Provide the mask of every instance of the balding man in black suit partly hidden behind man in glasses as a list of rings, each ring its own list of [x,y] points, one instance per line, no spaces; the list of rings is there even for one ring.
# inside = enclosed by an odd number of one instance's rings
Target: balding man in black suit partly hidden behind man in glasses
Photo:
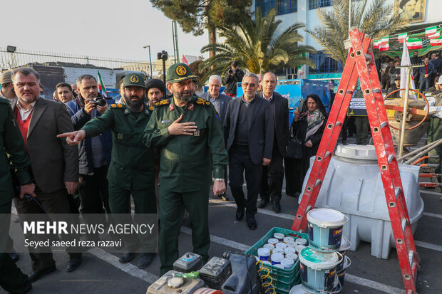
[[[261,203],[259,208],[264,208],[272,200],[273,211],[281,212],[282,181],[284,181],[284,166],[282,161],[289,144],[289,101],[274,92],[277,78],[274,73],[265,73],[262,78],[263,98],[272,105],[274,122],[272,162],[267,167],[262,167]]]

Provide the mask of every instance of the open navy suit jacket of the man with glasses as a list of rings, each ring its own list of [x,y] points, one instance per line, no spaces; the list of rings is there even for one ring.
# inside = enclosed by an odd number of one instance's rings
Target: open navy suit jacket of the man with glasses
[[[263,158],[272,159],[273,113],[269,101],[255,95],[253,115],[249,123],[249,151],[252,162],[261,164]],[[230,100],[224,121],[224,137],[227,152],[232,147],[237,130],[241,97]]]

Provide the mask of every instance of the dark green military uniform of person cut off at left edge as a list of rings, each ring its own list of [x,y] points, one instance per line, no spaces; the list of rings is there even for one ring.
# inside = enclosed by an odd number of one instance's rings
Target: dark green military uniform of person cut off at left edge
[[[9,154],[9,158],[6,156]],[[4,290],[20,293],[29,287],[28,276],[11,260],[6,252],[6,242],[11,221],[11,202],[14,197],[11,167],[16,171],[20,184],[31,184],[28,168],[31,165],[26,157],[23,137],[16,124],[9,101],[0,98],[0,285]]]

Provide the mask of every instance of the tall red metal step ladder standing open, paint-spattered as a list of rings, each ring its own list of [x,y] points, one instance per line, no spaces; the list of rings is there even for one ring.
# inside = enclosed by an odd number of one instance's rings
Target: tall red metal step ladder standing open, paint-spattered
[[[411,232],[404,189],[402,188],[398,162],[394,152],[393,140],[391,139],[384,98],[382,97],[381,85],[370,46],[371,39],[361,33],[359,29],[353,29],[350,31],[350,41],[349,57],[344,66],[341,82],[292,230],[305,231],[307,227],[307,212],[316,203],[319,189],[321,189],[321,184],[341,132],[342,122],[346,117],[351,96],[356,89],[359,78],[361,90],[364,93],[382,183],[384,184],[386,204],[389,209],[391,228],[394,233],[406,294],[416,294],[416,277],[419,268],[418,254]]]

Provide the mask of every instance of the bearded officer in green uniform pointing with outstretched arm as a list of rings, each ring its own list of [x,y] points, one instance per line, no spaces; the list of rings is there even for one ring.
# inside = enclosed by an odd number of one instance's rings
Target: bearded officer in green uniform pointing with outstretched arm
[[[125,75],[123,80],[125,103],[112,104],[101,115],[86,123],[81,130],[58,135],[66,137],[68,144],[78,144],[85,137],[94,137],[109,128],[112,130],[113,149],[108,170],[109,206],[112,214],[130,216],[130,195],[137,214],[156,214],[153,147],[143,144],[143,131],[148,125],[150,109],[145,104],[145,76],[139,73]],[[153,107],[151,107],[153,110]],[[141,217],[141,216],[138,216]],[[143,256],[139,268],[146,268],[155,256],[149,251],[153,241],[140,234]],[[156,240],[155,246],[156,246]],[[138,239],[125,240],[125,254],[121,263],[135,257]],[[156,248],[155,248],[156,249]]]

